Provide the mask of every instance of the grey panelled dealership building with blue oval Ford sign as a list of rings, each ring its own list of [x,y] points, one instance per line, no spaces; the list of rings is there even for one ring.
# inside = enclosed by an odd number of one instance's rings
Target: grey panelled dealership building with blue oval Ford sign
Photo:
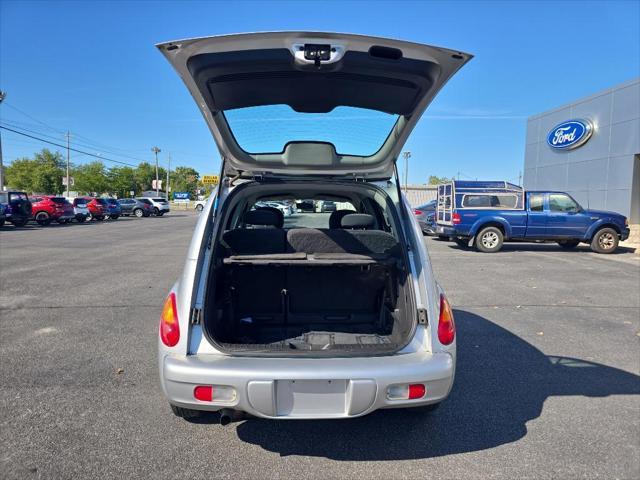
[[[640,78],[527,121],[524,187],[629,218],[640,241]]]

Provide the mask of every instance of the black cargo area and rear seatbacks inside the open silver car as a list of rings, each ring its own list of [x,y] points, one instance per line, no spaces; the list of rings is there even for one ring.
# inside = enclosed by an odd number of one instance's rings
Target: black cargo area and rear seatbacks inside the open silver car
[[[210,338],[238,352],[404,346],[415,315],[401,247],[372,218],[336,211],[333,228],[287,229],[268,208],[244,213],[223,233],[208,283]]]

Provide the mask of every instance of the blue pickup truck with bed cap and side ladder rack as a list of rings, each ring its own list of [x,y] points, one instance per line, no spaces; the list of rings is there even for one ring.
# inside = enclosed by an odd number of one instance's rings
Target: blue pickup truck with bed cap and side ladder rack
[[[612,253],[629,237],[624,215],[585,209],[564,192],[524,191],[508,182],[454,180],[438,185],[436,235],[481,252],[506,241],[557,242],[562,248],[588,243]]]

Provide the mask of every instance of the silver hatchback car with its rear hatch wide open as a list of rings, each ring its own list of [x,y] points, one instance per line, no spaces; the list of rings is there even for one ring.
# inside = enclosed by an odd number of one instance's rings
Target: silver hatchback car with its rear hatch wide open
[[[201,109],[222,176],[161,314],[173,412],[272,419],[433,410],[456,366],[451,307],[396,160],[471,56],[280,32],[158,45]],[[287,220],[264,202],[353,209]]]

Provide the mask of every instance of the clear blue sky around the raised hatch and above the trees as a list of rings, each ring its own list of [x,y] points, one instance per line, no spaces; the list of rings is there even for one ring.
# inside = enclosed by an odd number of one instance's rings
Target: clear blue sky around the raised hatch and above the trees
[[[215,173],[213,139],[154,44],[268,30],[387,36],[475,55],[409,140],[412,183],[457,172],[517,180],[528,116],[640,75],[639,1],[2,0],[0,121],[59,142],[70,130],[77,148],[124,162],[152,160],[158,145],[163,163],[170,152],[173,166]],[[6,131],[2,145],[5,162],[43,146]]]

